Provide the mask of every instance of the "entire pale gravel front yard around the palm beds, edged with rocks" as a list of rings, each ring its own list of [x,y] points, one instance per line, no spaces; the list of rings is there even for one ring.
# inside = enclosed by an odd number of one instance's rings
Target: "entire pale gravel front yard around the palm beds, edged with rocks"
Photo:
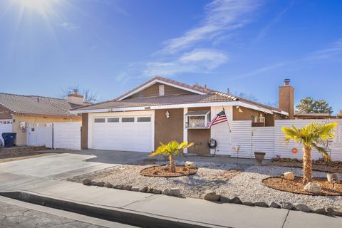
[[[279,176],[288,171],[294,172],[296,176],[301,176],[301,168],[218,165],[212,162],[197,162],[195,165],[198,167],[197,173],[183,177],[145,177],[140,175],[139,172],[151,165],[120,165],[87,175],[72,177],[68,180],[83,182],[85,179],[90,179],[95,182],[110,183],[110,186],[130,185],[130,188],[133,187],[133,189],[137,190],[141,187],[150,187],[157,190],[155,191],[157,193],[162,192],[164,189],[179,188],[182,196],[194,198],[203,198],[205,192],[212,190],[215,194],[222,196],[221,201],[244,202],[244,204],[254,203],[256,205],[260,204],[259,207],[279,204],[283,208],[291,208],[291,204],[299,204],[299,206],[304,204],[303,207],[307,205],[313,210],[322,207],[342,209],[341,196],[294,194],[271,189],[262,183],[262,180],[266,177]],[[326,173],[314,172],[314,177],[326,177]]]

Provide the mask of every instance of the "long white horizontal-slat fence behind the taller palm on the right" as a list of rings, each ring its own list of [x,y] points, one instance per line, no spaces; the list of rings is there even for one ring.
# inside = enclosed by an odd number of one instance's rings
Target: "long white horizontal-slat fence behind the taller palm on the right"
[[[233,157],[254,158],[254,152],[266,152],[266,158],[291,157],[301,159],[301,145],[299,143],[286,143],[282,127],[304,127],[313,122],[338,122],[336,137],[331,141],[329,151],[331,160],[342,160],[342,120],[276,120],[274,127],[251,127],[251,121],[233,121],[232,123],[232,147],[239,147],[239,152],[232,150]],[[294,154],[292,149],[298,152]],[[322,157],[316,150],[312,157],[317,160]]]

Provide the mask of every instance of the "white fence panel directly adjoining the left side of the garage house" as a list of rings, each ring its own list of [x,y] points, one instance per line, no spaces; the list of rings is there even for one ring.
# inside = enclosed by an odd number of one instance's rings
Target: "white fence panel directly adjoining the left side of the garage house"
[[[53,123],[53,148],[81,150],[81,122]]]

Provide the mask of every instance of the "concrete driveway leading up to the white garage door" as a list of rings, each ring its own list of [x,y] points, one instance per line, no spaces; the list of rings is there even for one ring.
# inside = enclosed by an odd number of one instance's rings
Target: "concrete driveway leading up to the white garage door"
[[[46,152],[57,152],[59,154],[3,162],[0,163],[0,172],[63,180],[115,165],[136,162],[148,157],[147,153],[142,152],[101,150],[51,150]]]

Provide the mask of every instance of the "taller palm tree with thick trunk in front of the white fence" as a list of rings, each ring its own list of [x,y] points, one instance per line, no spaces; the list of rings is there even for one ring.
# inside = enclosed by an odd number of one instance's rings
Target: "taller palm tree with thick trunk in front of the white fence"
[[[322,141],[331,140],[336,131],[333,129],[338,123],[310,123],[304,128],[281,128],[283,131],[286,142],[294,140],[303,145],[303,184],[306,185],[312,180],[311,170],[311,151],[316,148],[320,152],[324,160],[329,161],[330,156],[325,148],[321,147]]]

